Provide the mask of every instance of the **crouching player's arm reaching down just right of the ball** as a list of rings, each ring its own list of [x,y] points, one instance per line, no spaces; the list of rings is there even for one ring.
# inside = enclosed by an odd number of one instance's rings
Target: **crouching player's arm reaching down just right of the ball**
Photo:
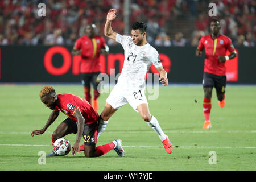
[[[84,131],[84,122],[85,122],[85,119],[82,116],[80,109],[77,109],[75,111],[74,117],[77,119],[77,135],[76,135],[76,142],[72,147],[72,155],[75,155],[76,152],[79,152],[80,140],[82,138],[82,132]]]

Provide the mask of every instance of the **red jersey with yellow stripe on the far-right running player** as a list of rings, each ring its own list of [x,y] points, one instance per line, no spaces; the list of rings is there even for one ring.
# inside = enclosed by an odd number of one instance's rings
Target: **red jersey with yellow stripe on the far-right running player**
[[[225,62],[220,62],[218,56],[226,56],[227,50],[230,53],[235,51],[230,38],[220,34],[216,39],[213,39],[209,34],[200,39],[197,49],[200,51],[205,49],[204,72],[220,76],[226,75]]]

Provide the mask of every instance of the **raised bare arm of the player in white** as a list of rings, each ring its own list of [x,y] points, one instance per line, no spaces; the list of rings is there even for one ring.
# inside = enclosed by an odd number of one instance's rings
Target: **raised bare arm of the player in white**
[[[114,32],[111,27],[111,22],[117,17],[115,13],[117,13],[116,9],[109,10],[106,17],[105,27],[104,27],[104,35],[113,40],[115,40],[115,37],[117,36],[117,33]]]

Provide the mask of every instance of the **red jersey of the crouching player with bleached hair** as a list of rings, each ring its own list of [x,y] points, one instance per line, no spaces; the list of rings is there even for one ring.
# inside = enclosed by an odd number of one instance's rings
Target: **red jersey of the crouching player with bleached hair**
[[[73,121],[77,122],[77,119],[73,116],[75,111],[79,109],[82,116],[85,119],[86,124],[95,123],[98,121],[98,113],[92,106],[82,97],[75,96],[73,94],[58,94],[56,110],[60,110]]]

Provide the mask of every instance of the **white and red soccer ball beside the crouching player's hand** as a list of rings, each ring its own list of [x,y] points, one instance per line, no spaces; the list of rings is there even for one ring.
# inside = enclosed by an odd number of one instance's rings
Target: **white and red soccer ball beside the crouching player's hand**
[[[59,138],[53,143],[53,151],[57,155],[67,155],[71,150],[70,142],[65,138]]]

